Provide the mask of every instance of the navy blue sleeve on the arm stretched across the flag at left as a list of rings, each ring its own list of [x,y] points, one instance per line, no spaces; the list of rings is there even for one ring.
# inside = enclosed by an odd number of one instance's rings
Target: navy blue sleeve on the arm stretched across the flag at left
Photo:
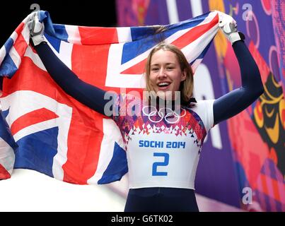
[[[82,81],[52,52],[52,49],[46,42],[35,46],[35,49],[47,72],[50,73],[50,76],[65,93],[96,112],[112,117],[112,103],[115,102],[115,93],[112,95],[107,93],[106,95],[105,90]],[[105,95],[107,100],[104,98]],[[104,111],[105,106],[110,106],[110,111],[106,112],[106,114]]]

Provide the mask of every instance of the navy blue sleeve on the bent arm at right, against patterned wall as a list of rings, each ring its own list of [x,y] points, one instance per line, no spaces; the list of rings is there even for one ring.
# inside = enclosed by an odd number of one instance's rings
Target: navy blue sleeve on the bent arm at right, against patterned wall
[[[264,92],[260,71],[248,47],[240,40],[233,43],[233,50],[240,66],[242,85],[214,101],[214,124],[242,112]]]

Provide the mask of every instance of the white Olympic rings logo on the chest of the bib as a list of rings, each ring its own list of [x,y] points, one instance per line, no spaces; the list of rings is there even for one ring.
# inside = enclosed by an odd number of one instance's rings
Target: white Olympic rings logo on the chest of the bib
[[[146,108],[149,107],[151,108],[150,112],[146,112]],[[169,124],[175,124],[180,120],[180,118],[185,117],[186,115],[185,109],[182,109],[182,115],[179,115],[177,112],[173,111],[169,107],[162,107],[161,109],[159,109],[159,111],[157,111],[156,107],[144,106],[142,112],[145,116],[149,117],[149,121],[154,123],[158,123],[165,119],[165,121],[167,121]],[[166,112],[166,114],[164,112]],[[158,121],[154,121],[153,119],[151,119],[151,117],[155,116],[156,114],[158,114],[158,116],[160,117]]]

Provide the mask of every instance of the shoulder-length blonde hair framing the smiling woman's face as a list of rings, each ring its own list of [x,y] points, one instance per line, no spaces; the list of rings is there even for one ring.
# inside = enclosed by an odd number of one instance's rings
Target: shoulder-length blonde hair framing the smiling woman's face
[[[146,78],[146,91],[151,92],[153,91],[153,87],[151,85],[151,81],[149,79],[150,73],[151,73],[151,58],[155,52],[158,52],[158,50],[163,49],[165,51],[173,52],[178,57],[178,62],[180,64],[181,71],[184,71],[186,74],[185,81],[182,81],[180,83],[180,98],[182,105],[187,105],[187,103],[190,101],[190,98],[192,97],[193,93],[193,87],[194,87],[194,80],[193,80],[193,71],[191,66],[189,65],[185,55],[182,53],[178,47],[176,47],[173,44],[165,44],[161,43],[158,44],[158,46],[151,49],[151,52],[149,54],[149,57],[146,60],[146,69],[145,69],[145,78]]]

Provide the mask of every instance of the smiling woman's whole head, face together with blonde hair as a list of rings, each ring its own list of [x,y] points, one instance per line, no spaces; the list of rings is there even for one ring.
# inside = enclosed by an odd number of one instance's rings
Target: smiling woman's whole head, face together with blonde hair
[[[146,91],[162,99],[175,100],[180,91],[182,105],[188,105],[193,91],[193,71],[182,51],[173,44],[158,44],[151,49],[144,73]]]

